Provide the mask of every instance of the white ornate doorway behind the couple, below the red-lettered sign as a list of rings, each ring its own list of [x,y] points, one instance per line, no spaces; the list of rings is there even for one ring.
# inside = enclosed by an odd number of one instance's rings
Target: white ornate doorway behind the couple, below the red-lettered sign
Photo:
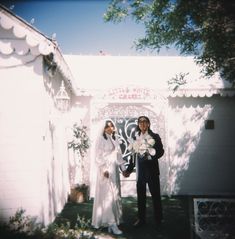
[[[166,106],[166,105],[165,105]],[[166,107],[159,106],[158,102],[97,102],[91,105],[91,133],[92,139],[95,141],[97,137],[98,125],[106,119],[111,119],[117,130],[118,139],[120,141],[123,158],[127,164],[130,159],[130,152],[127,150],[129,145],[128,138],[132,136],[137,125],[137,118],[140,115],[146,115],[151,122],[151,129],[160,135],[165,154],[159,159],[160,167],[160,180],[162,194],[168,194],[168,159],[167,159],[167,134],[166,134]],[[91,147],[91,165],[90,165],[90,181],[91,181],[91,197],[94,195],[95,185],[95,164],[94,164],[95,152]],[[122,196],[135,196],[136,195],[136,177],[135,173],[132,173],[129,178],[124,178],[121,175]]]

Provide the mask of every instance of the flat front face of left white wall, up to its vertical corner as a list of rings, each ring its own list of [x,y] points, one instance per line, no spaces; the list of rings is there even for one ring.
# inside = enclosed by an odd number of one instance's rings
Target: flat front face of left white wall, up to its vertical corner
[[[37,73],[35,73],[37,72]],[[1,70],[1,216],[17,208],[38,215],[43,158],[42,59]]]

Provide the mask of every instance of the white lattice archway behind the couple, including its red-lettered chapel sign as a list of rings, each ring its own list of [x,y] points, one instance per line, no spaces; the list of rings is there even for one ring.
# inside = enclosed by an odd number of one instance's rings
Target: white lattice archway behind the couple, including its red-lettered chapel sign
[[[128,138],[136,127],[137,118],[146,115],[150,118],[151,129],[161,136],[165,154],[159,160],[161,172],[161,188],[163,194],[168,194],[168,157],[167,157],[167,107],[168,100],[160,91],[136,86],[125,86],[107,91],[91,100],[91,138],[95,141],[97,126],[105,119],[112,119],[117,128],[118,137],[124,159],[128,162]],[[94,182],[94,148],[91,148],[91,182]],[[131,178],[122,178],[122,195],[135,195],[135,174]],[[91,183],[94,185],[94,183]],[[91,196],[93,188],[91,187]]]

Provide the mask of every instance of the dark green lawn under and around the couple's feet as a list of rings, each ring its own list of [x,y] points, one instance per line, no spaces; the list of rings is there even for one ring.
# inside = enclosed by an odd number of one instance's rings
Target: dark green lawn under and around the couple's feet
[[[128,238],[128,239],[189,239],[190,220],[188,212],[188,201],[185,198],[162,197],[164,223],[156,228],[154,224],[152,201],[147,199],[147,217],[146,225],[141,228],[134,228],[133,222],[137,216],[137,201],[135,197],[123,198],[123,219],[120,225],[123,231],[121,236],[113,236],[107,232],[107,228],[98,230],[95,233],[96,238]],[[69,221],[73,227],[79,215],[85,219],[91,219],[93,200],[85,203],[68,202],[63,211],[56,218],[56,222]]]

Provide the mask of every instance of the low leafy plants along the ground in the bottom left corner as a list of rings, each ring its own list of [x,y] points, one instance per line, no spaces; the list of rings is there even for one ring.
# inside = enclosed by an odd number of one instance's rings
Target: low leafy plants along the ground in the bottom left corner
[[[94,231],[91,227],[91,220],[85,217],[77,216],[77,223],[74,228],[70,222],[51,223],[47,227],[42,224],[35,223],[35,218],[26,216],[25,210],[19,209],[13,217],[10,217],[9,222],[0,227],[2,239],[92,239]]]

